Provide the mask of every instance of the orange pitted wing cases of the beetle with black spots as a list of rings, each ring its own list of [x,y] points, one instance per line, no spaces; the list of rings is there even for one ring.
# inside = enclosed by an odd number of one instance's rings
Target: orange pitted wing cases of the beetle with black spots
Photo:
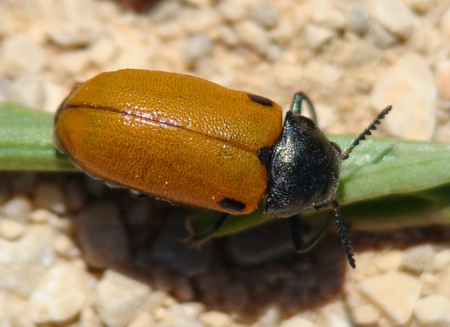
[[[104,72],[55,118],[55,144],[90,175],[172,202],[254,210],[267,186],[258,150],[282,128],[273,101],[162,71]]]

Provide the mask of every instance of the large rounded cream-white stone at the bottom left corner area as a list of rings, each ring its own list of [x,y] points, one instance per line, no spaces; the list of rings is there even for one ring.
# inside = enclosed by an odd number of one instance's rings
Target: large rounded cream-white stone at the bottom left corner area
[[[33,321],[57,323],[75,317],[87,300],[89,279],[74,263],[62,262],[49,269],[30,296]]]

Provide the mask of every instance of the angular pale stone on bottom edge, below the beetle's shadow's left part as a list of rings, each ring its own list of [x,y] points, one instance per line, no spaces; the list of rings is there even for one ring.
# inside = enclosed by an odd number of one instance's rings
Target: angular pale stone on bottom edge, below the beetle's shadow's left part
[[[142,308],[151,288],[112,270],[97,285],[95,308],[108,327],[122,327]]]

